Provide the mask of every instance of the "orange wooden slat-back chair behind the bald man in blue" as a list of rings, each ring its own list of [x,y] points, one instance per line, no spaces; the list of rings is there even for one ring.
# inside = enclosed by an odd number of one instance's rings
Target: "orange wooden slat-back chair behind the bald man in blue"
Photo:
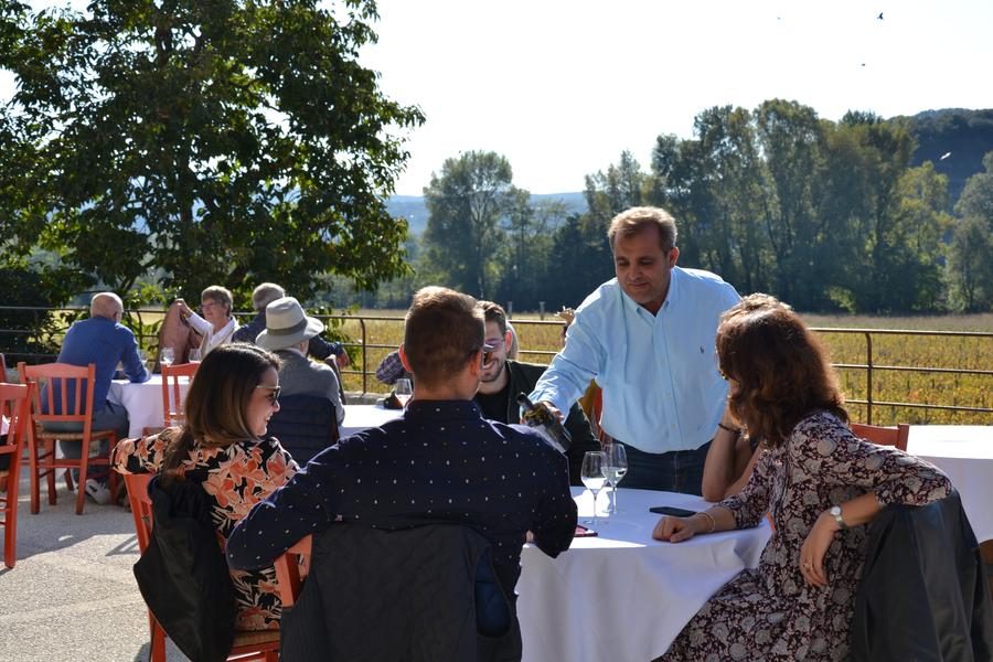
[[[117,474],[110,471],[110,453],[117,446],[117,433],[113,429],[95,430],[90,414],[93,413],[93,388],[96,367],[70,365],[68,363],[46,363],[43,365],[18,364],[21,383],[28,385],[31,401],[31,423],[28,426],[28,461],[31,467],[31,513],[38,514],[40,509],[39,483],[42,477],[47,478],[49,503],[55,505],[55,470],[68,469],[65,472],[65,484],[73,490],[72,469],[79,470],[79,484],[76,485],[76,514],[83,514],[86,503],[86,476],[90,466],[107,467],[110,479],[110,492],[117,493]],[[85,395],[84,395],[85,392]],[[42,403],[47,403],[45,407]],[[74,414],[66,414],[66,412]],[[54,414],[52,412],[58,412]],[[46,430],[46,423],[75,423],[82,426],[78,433],[55,433]],[[94,442],[107,439],[107,453],[89,457]],[[79,458],[56,458],[56,441],[78,441]]]

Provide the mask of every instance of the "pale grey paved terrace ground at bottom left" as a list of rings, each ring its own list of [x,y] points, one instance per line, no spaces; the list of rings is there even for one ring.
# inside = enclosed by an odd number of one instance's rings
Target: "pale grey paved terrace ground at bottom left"
[[[60,480],[58,504],[43,496],[32,515],[26,470],[20,485],[18,564],[0,565],[0,660],[148,660],[131,513],[88,501],[76,515],[75,494]],[[171,647],[168,656],[185,660]]]

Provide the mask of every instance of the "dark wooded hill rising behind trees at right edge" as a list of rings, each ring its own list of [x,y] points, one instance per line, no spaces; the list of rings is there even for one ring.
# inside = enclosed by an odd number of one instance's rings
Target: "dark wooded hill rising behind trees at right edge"
[[[918,142],[911,166],[931,161],[947,174],[949,205],[954,206],[965,180],[983,171],[983,154],[993,151],[993,109],[925,110],[909,119]]]

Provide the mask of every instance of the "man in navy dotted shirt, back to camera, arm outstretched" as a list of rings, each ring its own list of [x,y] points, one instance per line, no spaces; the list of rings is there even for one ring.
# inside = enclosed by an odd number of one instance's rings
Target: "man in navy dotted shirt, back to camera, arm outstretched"
[[[566,458],[524,426],[482,418],[483,313],[440,287],[414,295],[399,355],[414,373],[404,416],[342,439],[257,504],[227,541],[228,564],[269,565],[341,517],[396,530],[433,523],[473,528],[492,545],[514,602],[526,532],[545,554],[568,548],[576,526]]]

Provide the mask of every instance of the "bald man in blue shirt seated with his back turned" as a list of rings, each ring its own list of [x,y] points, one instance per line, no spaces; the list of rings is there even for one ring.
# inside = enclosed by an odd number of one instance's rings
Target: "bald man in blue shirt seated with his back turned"
[[[94,295],[89,302],[89,319],[75,322],[65,333],[62,351],[58,353],[58,363],[72,365],[96,364],[96,377],[93,384],[93,429],[114,429],[117,438],[128,436],[128,413],[121,406],[107,401],[110,391],[110,380],[117,372],[120,363],[125,376],[131,382],[147,382],[150,377],[148,370],[138,354],[138,343],[130,329],[120,323],[124,314],[124,303],[120,297],[114,292],[99,292]],[[78,424],[49,424],[49,429],[62,431],[78,431]],[[107,452],[107,441],[102,441],[103,453]],[[77,442],[60,442],[62,452],[67,458],[78,458],[81,448]],[[110,501],[110,492],[103,479],[93,477],[87,479],[84,489],[97,503]]]

